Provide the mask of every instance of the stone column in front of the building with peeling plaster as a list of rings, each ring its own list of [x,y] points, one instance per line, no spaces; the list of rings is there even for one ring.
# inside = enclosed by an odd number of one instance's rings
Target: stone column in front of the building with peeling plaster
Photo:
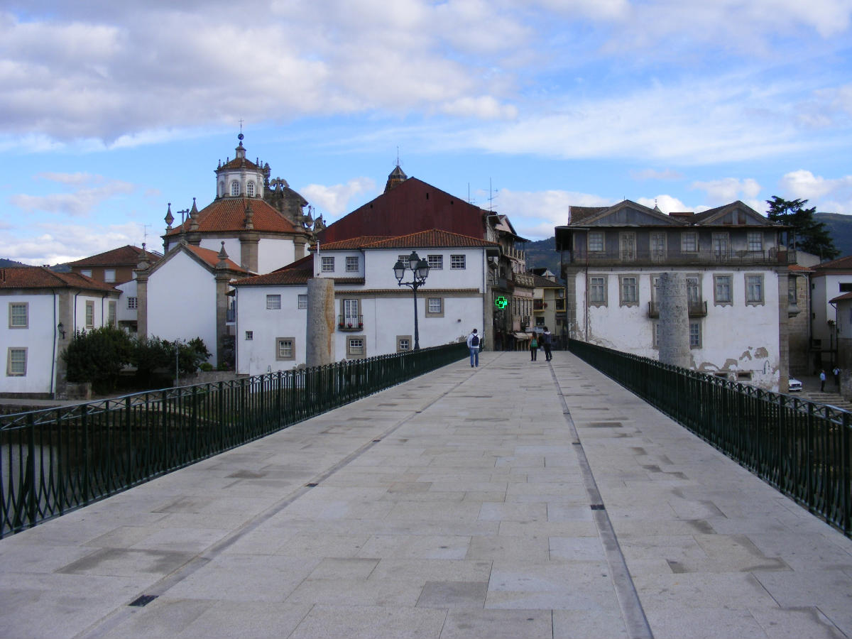
[[[689,312],[687,279],[683,273],[661,273],[657,286],[659,324],[657,346],[663,364],[692,366],[689,353]]]

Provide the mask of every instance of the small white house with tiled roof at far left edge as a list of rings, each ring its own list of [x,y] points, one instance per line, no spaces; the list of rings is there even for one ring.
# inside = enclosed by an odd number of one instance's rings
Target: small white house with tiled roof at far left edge
[[[79,273],[0,268],[6,358],[0,396],[53,398],[64,391],[61,354],[75,331],[116,325],[118,291]]]

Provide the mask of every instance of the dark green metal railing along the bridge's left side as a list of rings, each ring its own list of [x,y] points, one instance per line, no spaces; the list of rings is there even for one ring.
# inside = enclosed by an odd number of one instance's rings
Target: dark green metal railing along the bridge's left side
[[[0,416],[0,538],[468,353],[454,343]]]

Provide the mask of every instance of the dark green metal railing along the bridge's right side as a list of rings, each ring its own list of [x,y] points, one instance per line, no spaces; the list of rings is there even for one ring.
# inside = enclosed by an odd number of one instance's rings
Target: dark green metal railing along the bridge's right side
[[[852,536],[852,413],[595,344],[568,349]]]

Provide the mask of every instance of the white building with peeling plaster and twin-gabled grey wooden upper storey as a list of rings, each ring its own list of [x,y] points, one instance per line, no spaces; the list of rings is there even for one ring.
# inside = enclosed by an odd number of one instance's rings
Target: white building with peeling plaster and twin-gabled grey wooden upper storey
[[[788,263],[780,227],[740,201],[693,215],[625,200],[571,207],[566,251],[570,337],[659,358],[660,273],[686,277],[692,368],[784,389]]]

